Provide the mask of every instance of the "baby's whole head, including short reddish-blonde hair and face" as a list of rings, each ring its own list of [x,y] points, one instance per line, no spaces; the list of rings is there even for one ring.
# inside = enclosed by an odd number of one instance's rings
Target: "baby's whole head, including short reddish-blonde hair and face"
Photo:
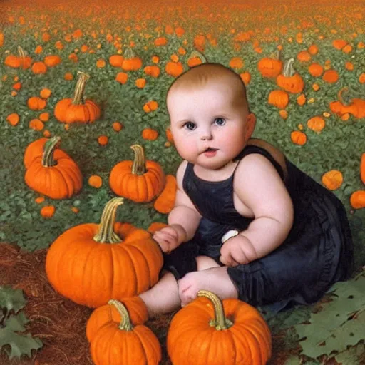
[[[219,63],[203,63],[176,78],[166,103],[178,153],[206,168],[235,158],[255,128],[245,83]]]

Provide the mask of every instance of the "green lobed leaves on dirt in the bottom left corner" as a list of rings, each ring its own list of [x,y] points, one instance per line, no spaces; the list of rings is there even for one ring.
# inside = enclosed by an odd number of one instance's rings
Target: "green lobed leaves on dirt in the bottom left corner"
[[[0,317],[0,351],[4,350],[9,359],[20,359],[23,355],[31,357],[33,349],[43,346],[40,339],[24,334],[25,325],[29,322],[21,311],[25,304],[21,289],[0,287],[0,309],[3,313]]]

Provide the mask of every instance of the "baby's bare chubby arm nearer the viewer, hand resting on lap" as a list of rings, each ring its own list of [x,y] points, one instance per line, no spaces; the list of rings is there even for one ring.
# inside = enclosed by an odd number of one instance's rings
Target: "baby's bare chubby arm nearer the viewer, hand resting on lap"
[[[247,230],[227,240],[220,261],[227,266],[247,264],[269,254],[284,242],[292,228],[294,208],[282,179],[262,155],[247,155],[235,172],[234,191],[255,218]]]

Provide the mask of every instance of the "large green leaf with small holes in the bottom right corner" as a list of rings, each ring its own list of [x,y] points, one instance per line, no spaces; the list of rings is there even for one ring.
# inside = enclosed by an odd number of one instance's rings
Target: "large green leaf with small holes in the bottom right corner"
[[[338,282],[331,288],[333,300],[323,304],[322,310],[312,314],[310,324],[294,326],[303,354],[317,358],[332,351],[344,351],[364,337],[365,273],[355,279]]]

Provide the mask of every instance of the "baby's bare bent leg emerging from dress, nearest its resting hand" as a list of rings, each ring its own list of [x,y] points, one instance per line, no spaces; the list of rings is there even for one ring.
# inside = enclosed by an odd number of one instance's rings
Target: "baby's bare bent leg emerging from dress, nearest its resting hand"
[[[196,272],[187,273],[178,281],[178,289],[182,306],[196,298],[199,290],[209,290],[220,299],[237,298],[238,292],[230,276],[227,267],[219,266],[214,259],[207,256],[197,257]]]

